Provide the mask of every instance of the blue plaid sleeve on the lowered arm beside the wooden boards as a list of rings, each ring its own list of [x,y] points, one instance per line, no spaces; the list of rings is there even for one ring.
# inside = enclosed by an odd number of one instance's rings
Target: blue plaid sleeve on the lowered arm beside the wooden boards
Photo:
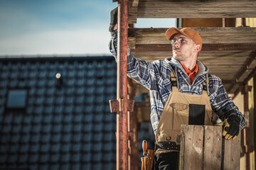
[[[245,127],[245,118],[242,113],[238,110],[238,107],[235,106],[232,99],[228,96],[225,88],[220,80],[220,78],[211,75],[213,81],[210,83],[210,103],[213,108],[213,111],[220,120],[225,120],[231,115],[237,115],[240,118],[240,129]]]

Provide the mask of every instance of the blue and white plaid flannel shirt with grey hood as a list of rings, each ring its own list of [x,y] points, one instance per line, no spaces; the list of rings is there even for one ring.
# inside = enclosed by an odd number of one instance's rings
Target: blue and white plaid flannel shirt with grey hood
[[[117,60],[117,30],[111,33],[110,52]],[[198,73],[193,84],[190,83],[188,75],[181,64],[172,57],[165,60],[146,62],[137,59],[132,55],[131,50],[127,50],[127,76],[137,81],[137,83],[149,89],[151,103],[151,124],[156,132],[161,113],[165,103],[171,93],[171,72],[175,72],[178,79],[178,91],[186,94],[201,95],[203,92],[203,81],[208,77],[210,96],[210,106],[220,120],[229,118],[230,115],[237,115],[240,118],[240,129],[245,127],[245,118],[228,96],[219,77],[208,74],[208,67],[197,61]]]

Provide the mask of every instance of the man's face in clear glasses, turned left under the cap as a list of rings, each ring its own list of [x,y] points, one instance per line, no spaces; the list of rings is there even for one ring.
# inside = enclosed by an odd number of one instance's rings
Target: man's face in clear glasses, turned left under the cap
[[[174,44],[172,45],[173,57],[179,62],[187,60],[192,57],[193,51],[196,47],[196,43],[185,35],[178,33],[172,40]]]

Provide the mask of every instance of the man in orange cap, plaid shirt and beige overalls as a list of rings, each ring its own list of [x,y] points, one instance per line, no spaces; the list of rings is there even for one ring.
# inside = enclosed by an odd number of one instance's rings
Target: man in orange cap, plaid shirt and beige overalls
[[[110,52],[117,58],[117,8],[111,12]],[[151,124],[156,138],[155,169],[178,169],[181,125],[212,125],[213,112],[223,121],[223,136],[235,140],[245,118],[226,93],[219,77],[198,61],[201,36],[191,28],[169,28],[172,57],[146,62],[128,48],[127,76],[149,89]]]

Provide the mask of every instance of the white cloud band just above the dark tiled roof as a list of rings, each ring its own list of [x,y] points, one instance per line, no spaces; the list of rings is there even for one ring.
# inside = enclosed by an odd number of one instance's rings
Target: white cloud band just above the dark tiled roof
[[[0,40],[0,55],[109,54],[108,30],[77,29],[20,35]]]

